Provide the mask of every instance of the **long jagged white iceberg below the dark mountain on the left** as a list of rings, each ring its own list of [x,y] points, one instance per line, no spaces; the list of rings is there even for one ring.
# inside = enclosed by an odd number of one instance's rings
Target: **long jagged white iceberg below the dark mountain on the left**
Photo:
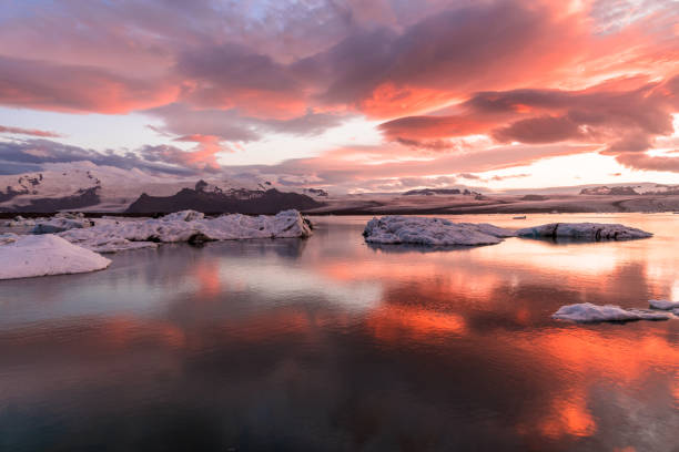
[[[308,222],[297,210],[260,216],[232,214],[216,218],[183,210],[156,219],[102,218],[92,227],[70,229],[59,235],[94,251],[115,253],[154,247],[159,243],[293,238],[311,234]]]

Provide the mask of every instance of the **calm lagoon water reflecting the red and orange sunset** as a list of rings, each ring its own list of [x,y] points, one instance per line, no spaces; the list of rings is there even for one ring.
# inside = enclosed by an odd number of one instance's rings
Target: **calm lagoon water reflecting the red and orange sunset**
[[[679,216],[647,240],[169,245],[0,281],[1,451],[679,450],[679,320],[576,326],[572,302],[679,300]]]

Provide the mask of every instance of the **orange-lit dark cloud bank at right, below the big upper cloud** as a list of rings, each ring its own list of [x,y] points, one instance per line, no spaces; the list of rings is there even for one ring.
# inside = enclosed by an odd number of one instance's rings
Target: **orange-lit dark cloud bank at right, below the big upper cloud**
[[[379,129],[399,143],[487,134],[499,143],[570,142],[598,144],[610,155],[645,152],[656,137],[673,133],[679,75],[653,82],[616,79],[579,91],[480,92],[448,110],[456,113],[406,116]]]

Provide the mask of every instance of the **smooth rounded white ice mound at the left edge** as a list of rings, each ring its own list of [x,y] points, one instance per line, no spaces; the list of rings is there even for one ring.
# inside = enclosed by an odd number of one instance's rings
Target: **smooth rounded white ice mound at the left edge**
[[[55,235],[0,236],[0,279],[104,269],[109,259]]]

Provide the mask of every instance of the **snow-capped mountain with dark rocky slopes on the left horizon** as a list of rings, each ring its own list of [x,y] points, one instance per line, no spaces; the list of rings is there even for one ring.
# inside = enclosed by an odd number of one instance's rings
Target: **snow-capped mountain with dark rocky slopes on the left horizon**
[[[286,208],[323,206],[315,198],[327,197],[323,189],[308,188],[304,193],[283,192],[257,177],[196,183],[190,176],[154,176],[138,170],[80,163],[52,165],[36,173],[0,175],[0,212],[163,213],[192,208],[210,213],[275,214]]]

